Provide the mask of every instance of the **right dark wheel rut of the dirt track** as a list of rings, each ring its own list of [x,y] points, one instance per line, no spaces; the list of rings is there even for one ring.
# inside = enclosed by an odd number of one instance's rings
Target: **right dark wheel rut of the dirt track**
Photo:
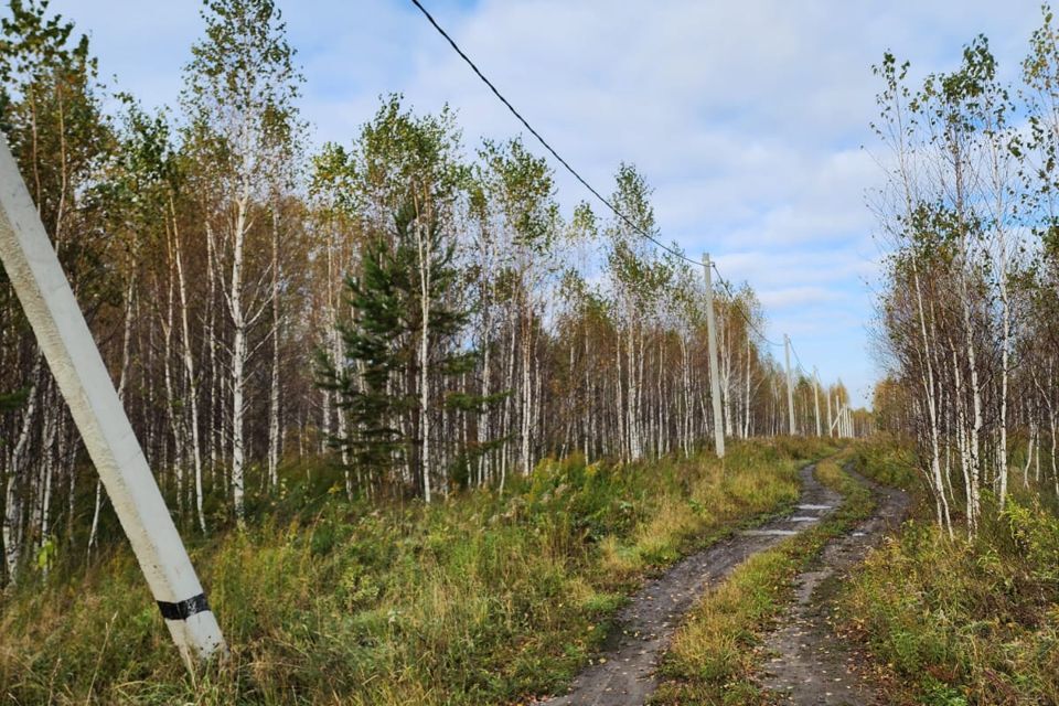
[[[908,494],[878,485],[846,470],[871,489],[879,505],[854,531],[827,544],[815,567],[801,574],[795,601],[783,627],[766,640],[773,653],[761,685],[782,704],[823,704],[825,706],[874,706],[885,704],[867,680],[859,655],[836,637],[830,622],[833,601],[825,596],[848,570],[864,560],[868,550],[881,542],[888,530],[896,530],[908,513]]]

